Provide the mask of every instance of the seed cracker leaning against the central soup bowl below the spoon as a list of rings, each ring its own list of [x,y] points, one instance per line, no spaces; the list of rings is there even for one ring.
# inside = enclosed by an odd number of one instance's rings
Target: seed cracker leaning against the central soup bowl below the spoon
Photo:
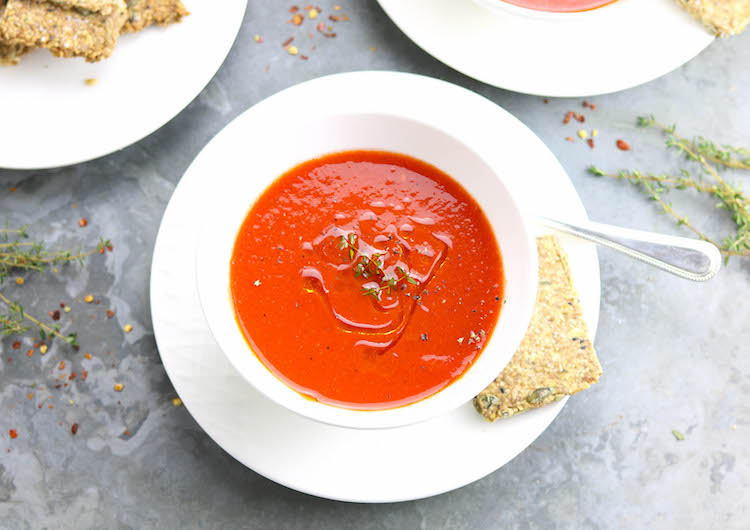
[[[474,398],[487,421],[585,390],[602,373],[565,252],[552,236],[537,239],[537,248],[539,291],[529,330],[508,366]]]

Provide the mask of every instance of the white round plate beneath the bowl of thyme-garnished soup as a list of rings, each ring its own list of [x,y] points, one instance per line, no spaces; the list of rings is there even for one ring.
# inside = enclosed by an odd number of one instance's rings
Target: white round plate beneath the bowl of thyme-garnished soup
[[[458,138],[507,176],[522,206],[558,218],[587,219],[565,171],[544,144],[508,112],[473,92],[393,72],[308,81],[235,119],[204,148],[177,186],[162,219],[151,268],[154,334],[164,367],[185,406],[216,443],[247,467],[290,488],[337,500],[396,502],[469,484],[533,442],[565,400],[494,424],[482,420],[467,403],[407,427],[333,427],[298,416],[259,394],[232,367],[208,330],[192,265],[201,226],[196,211],[211,200],[212,190],[225,185],[228,171],[236,172],[242,156],[233,161],[232,153],[243,148],[249,131],[279,121],[294,123],[299,112],[306,112],[299,101],[315,101],[310,112],[333,106],[395,114],[419,107],[443,113]],[[304,142],[304,132],[297,131],[290,141]],[[246,168],[247,178],[252,172],[252,167]],[[593,335],[599,316],[596,250],[587,243],[561,241]],[[492,451],[456,450],[446,457],[446,447]]]

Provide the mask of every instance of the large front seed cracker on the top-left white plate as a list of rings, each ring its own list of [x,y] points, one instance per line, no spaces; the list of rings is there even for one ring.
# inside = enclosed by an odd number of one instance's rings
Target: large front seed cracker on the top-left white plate
[[[87,1],[93,5],[93,0]],[[8,0],[0,15],[0,39],[47,48],[58,57],[85,57],[88,62],[105,59],[112,54],[128,16],[124,0],[107,2],[109,8],[89,11],[50,1]]]

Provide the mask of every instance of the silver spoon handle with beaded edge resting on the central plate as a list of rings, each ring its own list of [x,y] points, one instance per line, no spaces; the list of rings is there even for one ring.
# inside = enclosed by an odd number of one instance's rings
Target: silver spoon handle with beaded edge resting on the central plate
[[[695,282],[710,280],[721,268],[719,249],[706,241],[590,221],[573,224],[546,217],[537,217],[537,221],[547,228],[593,241]]]

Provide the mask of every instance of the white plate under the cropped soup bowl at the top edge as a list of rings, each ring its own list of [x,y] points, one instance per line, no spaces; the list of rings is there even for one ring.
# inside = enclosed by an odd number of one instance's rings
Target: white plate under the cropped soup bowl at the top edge
[[[378,2],[409,38],[448,66],[541,96],[591,96],[640,85],[713,41],[674,0],[619,0],[570,21],[506,13],[472,0]]]

